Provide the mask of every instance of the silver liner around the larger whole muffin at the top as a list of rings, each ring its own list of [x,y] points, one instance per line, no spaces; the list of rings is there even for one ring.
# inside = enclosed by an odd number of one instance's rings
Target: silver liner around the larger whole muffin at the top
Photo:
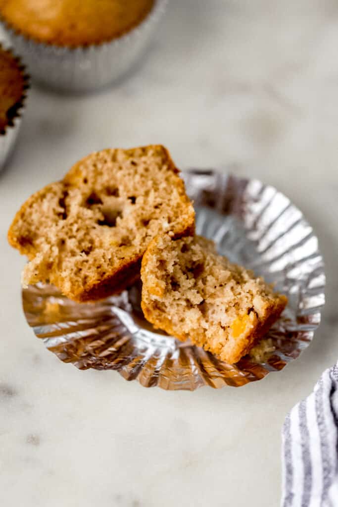
[[[142,55],[164,13],[167,0],[156,0],[152,11],[135,28],[111,42],[69,48],[36,42],[3,26],[22,55],[33,79],[64,92],[89,92],[119,79]]]

